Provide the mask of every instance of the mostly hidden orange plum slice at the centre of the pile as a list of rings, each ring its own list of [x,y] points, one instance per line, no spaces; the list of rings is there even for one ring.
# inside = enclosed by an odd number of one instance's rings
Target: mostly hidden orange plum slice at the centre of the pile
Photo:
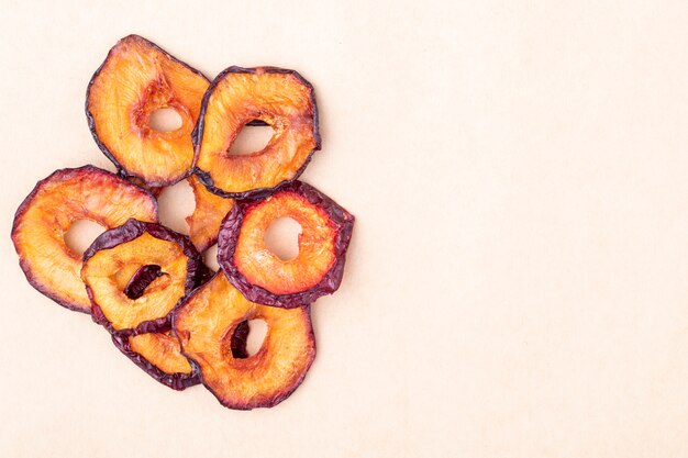
[[[199,252],[204,252],[218,241],[220,224],[232,210],[234,200],[208,191],[196,176],[189,177],[188,181],[196,199],[193,213],[186,217],[189,238]]]

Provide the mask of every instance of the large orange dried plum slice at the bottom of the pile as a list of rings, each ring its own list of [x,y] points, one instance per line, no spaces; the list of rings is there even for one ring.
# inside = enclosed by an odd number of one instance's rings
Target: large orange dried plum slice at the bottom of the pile
[[[237,358],[232,339],[247,320],[267,323],[263,346]],[[308,305],[291,310],[247,301],[220,271],[175,310],[173,329],[202,383],[230,409],[270,407],[303,381],[315,358]],[[240,329],[241,331],[241,329]]]

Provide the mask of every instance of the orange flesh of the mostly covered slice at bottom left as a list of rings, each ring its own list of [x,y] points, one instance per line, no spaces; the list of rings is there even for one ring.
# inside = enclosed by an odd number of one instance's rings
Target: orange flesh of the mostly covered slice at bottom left
[[[133,351],[143,356],[163,372],[191,372],[191,365],[181,355],[179,340],[171,335],[171,331],[131,336],[129,337],[129,345]]]

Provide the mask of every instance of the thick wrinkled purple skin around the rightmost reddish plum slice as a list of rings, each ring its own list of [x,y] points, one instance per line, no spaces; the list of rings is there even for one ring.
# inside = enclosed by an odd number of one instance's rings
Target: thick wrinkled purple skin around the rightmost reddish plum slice
[[[293,181],[279,189],[278,192],[295,192],[304,197],[311,204],[322,209],[328,216],[339,224],[340,231],[334,239],[334,265],[314,287],[291,294],[275,294],[257,284],[253,284],[238,271],[234,265],[234,250],[241,232],[244,215],[263,198],[237,200],[230,213],[222,221],[218,235],[218,262],[234,287],[252,302],[258,304],[293,309],[302,304],[310,304],[318,298],[332,294],[337,290],[344,275],[346,249],[354,230],[355,217],[332,199],[302,181]]]

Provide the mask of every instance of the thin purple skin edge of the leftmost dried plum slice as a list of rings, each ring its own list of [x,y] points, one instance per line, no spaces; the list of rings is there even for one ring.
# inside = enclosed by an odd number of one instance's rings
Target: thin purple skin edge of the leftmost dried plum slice
[[[16,225],[20,223],[22,216],[26,212],[26,209],[29,209],[29,205],[33,201],[33,198],[38,193],[38,191],[41,190],[41,188],[43,187],[43,185],[45,182],[49,181],[56,175],[80,174],[80,172],[107,174],[107,175],[112,175],[113,177],[118,177],[119,179],[122,179],[122,177],[119,177],[119,176],[112,174],[111,171],[103,170],[103,169],[101,169],[99,167],[96,167],[96,166],[92,166],[90,164],[86,165],[86,166],[77,167],[77,168],[63,168],[63,169],[55,170],[54,172],[52,172],[46,178],[44,178],[41,181],[36,182],[36,186],[33,188],[33,190],[29,193],[29,196],[26,196],[26,198],[21,203],[21,205],[19,205],[19,209],[16,209],[16,213],[14,213],[14,222],[12,223],[12,234],[14,234],[14,231],[16,230]],[[147,193],[148,196],[151,196],[151,201],[155,204],[155,212],[157,214],[157,211],[158,211],[157,200],[151,193],[151,191],[148,191],[147,189],[142,188],[141,186],[138,186],[136,183],[133,183],[131,181],[126,181],[126,183],[131,185],[131,186],[142,190],[143,192]],[[20,258],[19,266],[21,267],[22,271],[24,272],[24,276],[26,277],[26,280],[29,281],[29,284],[34,287],[40,293],[42,293],[43,295],[52,299],[53,301],[55,301],[59,305],[64,306],[65,309],[73,310],[75,312],[81,312],[81,313],[90,314],[90,311],[88,311],[88,310],[84,310],[84,309],[81,309],[79,306],[76,306],[71,302],[66,302],[66,301],[63,301],[63,300],[56,298],[55,294],[53,293],[54,287],[51,287],[49,284],[45,286],[45,284],[41,283],[33,276],[33,273],[29,270],[29,266],[26,265],[24,259]]]

